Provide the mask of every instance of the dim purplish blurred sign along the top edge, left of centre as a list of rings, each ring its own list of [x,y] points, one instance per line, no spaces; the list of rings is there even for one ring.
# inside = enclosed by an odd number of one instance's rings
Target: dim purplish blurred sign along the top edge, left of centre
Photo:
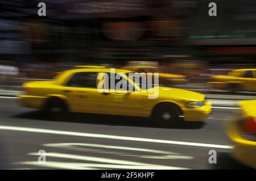
[[[122,15],[145,15],[148,10],[146,0],[73,0],[49,1],[55,9],[55,18],[113,18]],[[61,17],[62,16],[62,17]]]

